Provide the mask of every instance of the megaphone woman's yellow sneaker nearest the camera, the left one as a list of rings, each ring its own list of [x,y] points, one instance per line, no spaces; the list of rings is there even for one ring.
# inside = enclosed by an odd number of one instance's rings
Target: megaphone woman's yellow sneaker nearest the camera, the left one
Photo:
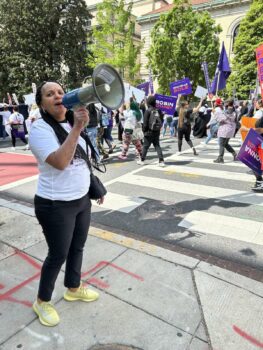
[[[53,327],[60,321],[56,309],[49,302],[43,301],[41,304],[39,304],[37,301],[35,301],[33,304],[33,310],[39,317],[40,323],[42,323],[44,326]]]

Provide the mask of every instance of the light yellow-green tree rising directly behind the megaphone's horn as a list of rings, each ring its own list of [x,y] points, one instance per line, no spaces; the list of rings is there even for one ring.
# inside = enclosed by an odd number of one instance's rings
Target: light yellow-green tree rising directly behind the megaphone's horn
[[[135,20],[131,15],[133,3],[125,9],[124,0],[104,0],[98,5],[97,25],[93,28],[93,67],[99,63],[113,65],[131,84],[137,80],[140,69],[138,55],[142,44],[135,43]]]

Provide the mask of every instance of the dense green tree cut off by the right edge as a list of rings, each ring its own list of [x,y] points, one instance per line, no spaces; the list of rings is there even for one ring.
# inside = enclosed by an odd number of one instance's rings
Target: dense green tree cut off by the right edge
[[[227,90],[232,94],[236,89],[240,99],[247,99],[250,89],[255,88],[257,63],[255,49],[263,43],[263,2],[254,0],[249,11],[240,23],[234,43],[232,74]]]

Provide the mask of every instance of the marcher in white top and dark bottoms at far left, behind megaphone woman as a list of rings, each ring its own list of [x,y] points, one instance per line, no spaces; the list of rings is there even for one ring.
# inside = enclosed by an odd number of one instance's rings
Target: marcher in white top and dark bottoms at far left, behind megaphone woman
[[[18,112],[18,106],[13,107],[13,113],[9,117],[9,124],[11,126],[11,139],[12,150],[16,149],[16,139],[19,138],[26,145],[25,149],[28,149],[28,143],[25,137],[24,128],[24,116]]]

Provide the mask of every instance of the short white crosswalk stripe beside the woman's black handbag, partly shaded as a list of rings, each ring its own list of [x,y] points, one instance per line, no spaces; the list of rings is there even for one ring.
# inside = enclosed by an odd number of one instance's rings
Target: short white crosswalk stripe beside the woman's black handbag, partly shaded
[[[145,202],[145,199],[139,197],[123,196],[108,192],[103,204],[98,205],[96,202],[93,202],[93,205],[102,209],[116,210],[127,214]]]

